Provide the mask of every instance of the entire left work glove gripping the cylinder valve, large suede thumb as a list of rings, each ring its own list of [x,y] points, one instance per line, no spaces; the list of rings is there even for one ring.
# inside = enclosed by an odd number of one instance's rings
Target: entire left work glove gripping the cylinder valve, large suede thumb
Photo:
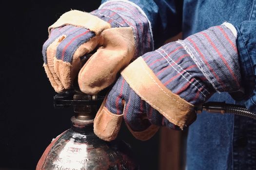
[[[149,21],[132,2],[106,2],[98,10],[63,14],[48,29],[42,54],[44,68],[55,91],[73,86],[96,94],[116,80],[118,71],[139,55],[152,51]],[[143,43],[142,43],[143,42]],[[90,59],[86,54],[96,51]]]

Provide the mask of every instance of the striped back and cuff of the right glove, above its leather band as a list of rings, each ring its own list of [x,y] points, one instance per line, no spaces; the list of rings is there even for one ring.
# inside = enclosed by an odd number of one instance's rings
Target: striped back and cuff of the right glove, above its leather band
[[[142,57],[163,85],[194,105],[205,102],[215,90],[240,88],[236,36],[226,25],[211,27]]]

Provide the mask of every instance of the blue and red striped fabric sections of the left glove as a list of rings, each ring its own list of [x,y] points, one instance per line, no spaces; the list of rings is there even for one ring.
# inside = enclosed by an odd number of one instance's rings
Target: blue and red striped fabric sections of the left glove
[[[140,13],[137,7],[122,1],[108,2],[90,14],[101,18],[111,24],[111,27],[132,27],[136,42],[135,58],[151,51],[153,37],[147,18]],[[95,33],[86,28],[66,25],[51,29],[49,38],[43,44],[42,54],[44,63],[47,64],[46,50],[48,46],[59,36],[65,34],[66,38],[61,41],[57,48],[56,58],[71,63],[73,55],[80,45],[89,41]]]

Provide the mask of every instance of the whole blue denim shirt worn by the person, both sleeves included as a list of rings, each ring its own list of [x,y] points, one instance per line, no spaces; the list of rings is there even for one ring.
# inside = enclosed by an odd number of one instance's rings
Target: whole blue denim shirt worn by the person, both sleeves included
[[[107,0],[103,0],[105,2]],[[256,0],[130,0],[147,15],[155,47],[227,21],[236,27],[243,93],[216,93],[209,101],[237,103],[256,112]],[[232,98],[232,97],[233,98]],[[188,170],[256,169],[256,120],[202,113],[189,127]]]

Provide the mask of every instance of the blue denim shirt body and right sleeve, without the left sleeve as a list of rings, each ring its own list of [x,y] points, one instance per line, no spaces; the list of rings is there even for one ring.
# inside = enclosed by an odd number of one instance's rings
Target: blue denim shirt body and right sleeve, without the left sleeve
[[[183,7],[185,37],[224,21],[236,26],[239,62],[246,93],[243,100],[236,103],[245,104],[253,111],[256,111],[256,102],[253,102],[255,97],[253,66],[256,59],[255,10],[255,0],[185,0]],[[210,100],[234,103],[227,93],[215,94]],[[189,128],[187,169],[255,169],[256,131],[253,131],[254,129],[256,129],[256,120],[253,119],[209,113],[198,115],[196,122]]]

